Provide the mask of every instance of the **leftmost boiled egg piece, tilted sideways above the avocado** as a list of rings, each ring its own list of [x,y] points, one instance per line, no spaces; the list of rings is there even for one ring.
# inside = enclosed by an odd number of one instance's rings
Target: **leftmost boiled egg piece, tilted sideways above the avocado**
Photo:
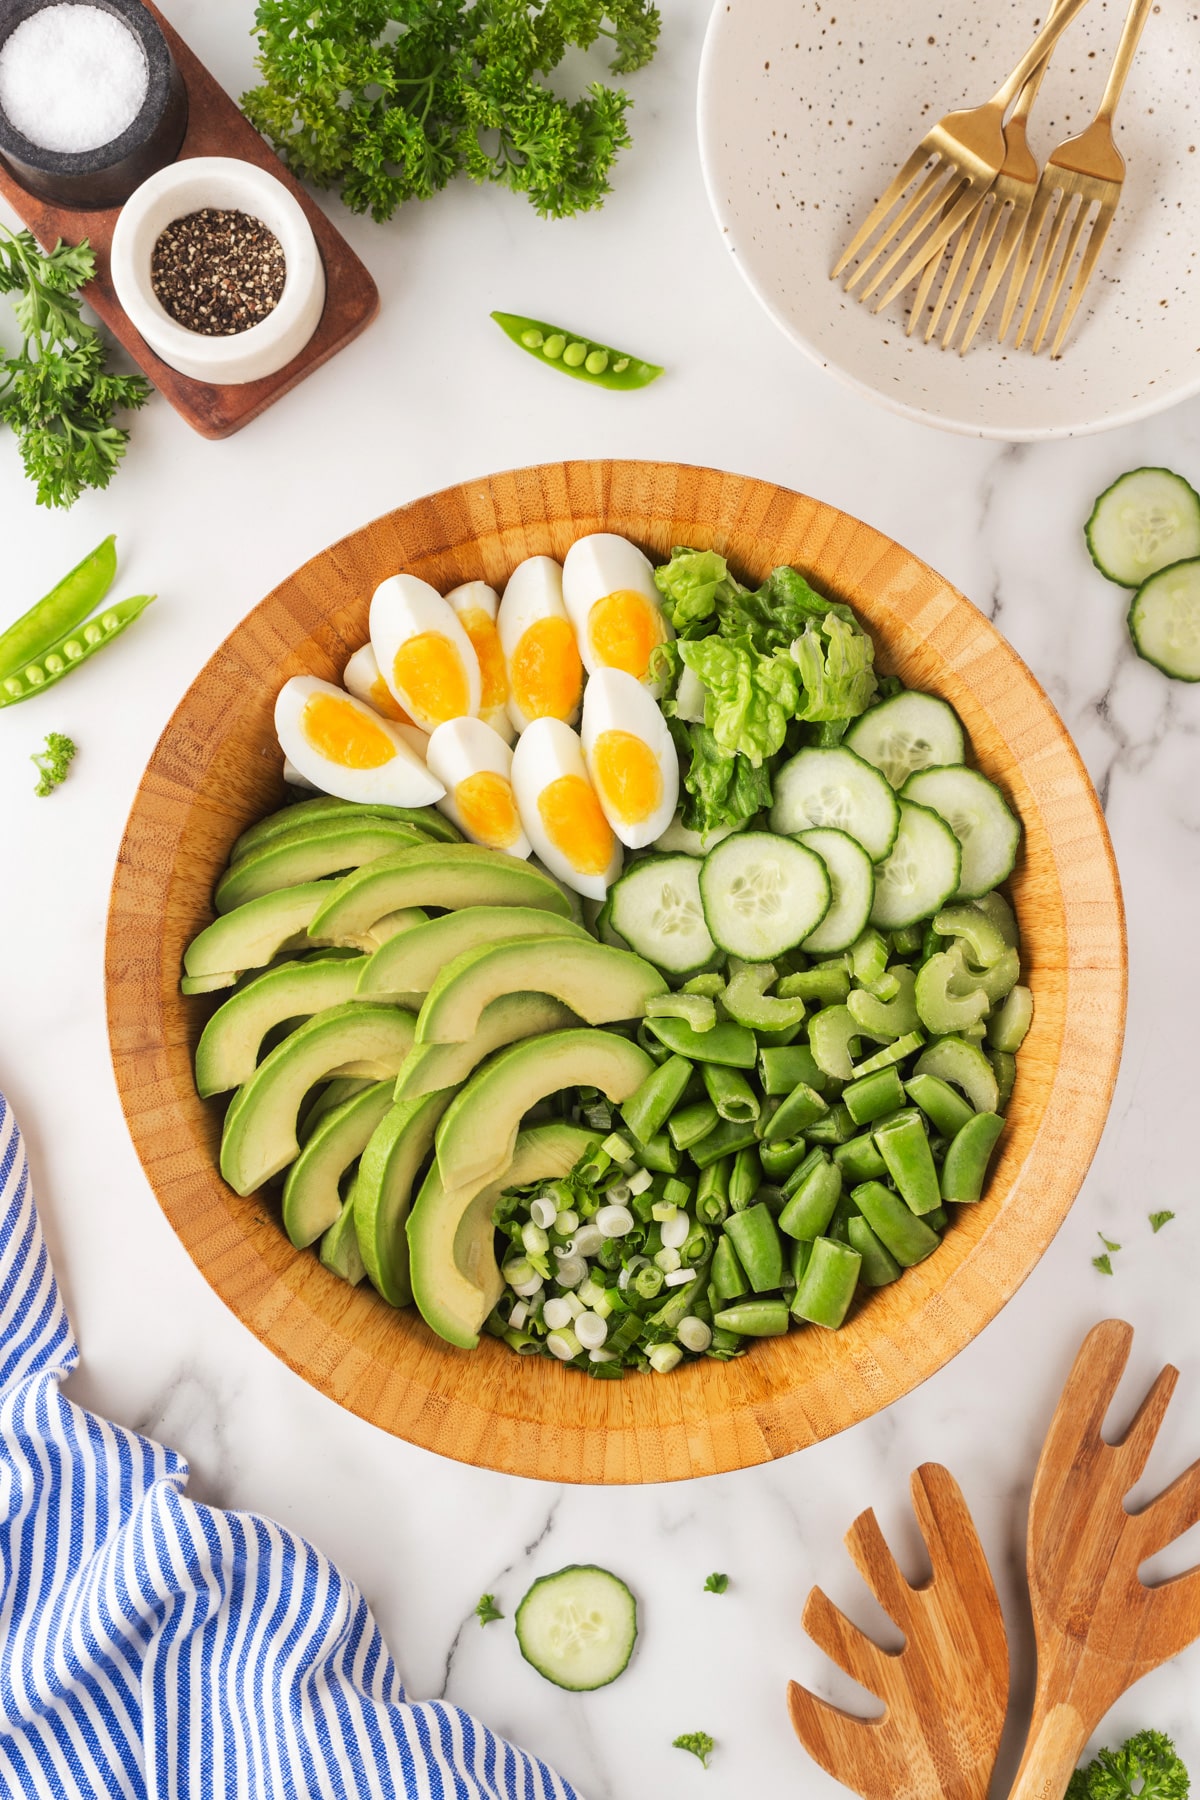
[[[444,794],[398,725],[315,675],[279,689],[275,731],[288,763],[336,799],[430,806]]]

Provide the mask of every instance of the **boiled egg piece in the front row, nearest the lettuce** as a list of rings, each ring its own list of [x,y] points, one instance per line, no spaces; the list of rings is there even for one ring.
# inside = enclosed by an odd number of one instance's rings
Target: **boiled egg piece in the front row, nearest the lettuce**
[[[622,670],[597,670],[583,695],[579,736],[596,797],[621,842],[653,844],[678,801],[678,758],[655,697]]]

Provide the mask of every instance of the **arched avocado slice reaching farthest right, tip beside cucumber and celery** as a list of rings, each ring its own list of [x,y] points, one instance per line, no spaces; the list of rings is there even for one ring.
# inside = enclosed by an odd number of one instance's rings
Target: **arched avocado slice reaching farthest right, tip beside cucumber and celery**
[[[437,976],[417,1017],[417,1044],[464,1044],[484,1006],[516,992],[549,994],[588,1024],[613,1024],[642,1019],[646,1001],[667,985],[640,956],[587,936],[489,943]]]

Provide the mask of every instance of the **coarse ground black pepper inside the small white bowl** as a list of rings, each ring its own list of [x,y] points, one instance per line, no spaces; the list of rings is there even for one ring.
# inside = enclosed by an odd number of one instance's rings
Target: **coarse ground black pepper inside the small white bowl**
[[[282,245],[248,212],[201,207],[158,238],[149,281],[176,324],[236,337],[275,311],[288,275]]]

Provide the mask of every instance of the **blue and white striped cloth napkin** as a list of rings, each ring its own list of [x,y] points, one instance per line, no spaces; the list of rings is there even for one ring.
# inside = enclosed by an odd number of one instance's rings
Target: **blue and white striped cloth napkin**
[[[405,1697],[363,1597],[187,1462],[65,1400],[77,1346],[0,1094],[0,1795],[576,1800]]]

